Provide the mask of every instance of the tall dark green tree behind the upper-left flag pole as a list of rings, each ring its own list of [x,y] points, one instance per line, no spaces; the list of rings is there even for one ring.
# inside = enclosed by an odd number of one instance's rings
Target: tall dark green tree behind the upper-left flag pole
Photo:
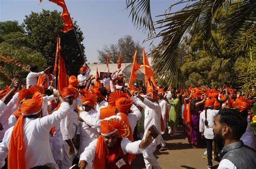
[[[53,66],[55,61],[56,45],[58,34],[60,36],[60,45],[63,48],[62,55],[65,59],[66,69],[71,74],[77,74],[79,67],[84,64],[83,56],[75,36],[75,32],[70,30],[67,33],[60,32],[63,19],[60,12],[43,10],[41,13],[32,12],[25,16],[24,29],[29,37],[29,47],[36,50],[47,60],[48,66]],[[77,22],[73,22],[78,39],[83,41],[83,32],[80,30]],[[84,46],[82,50],[84,53]],[[86,58],[85,58],[86,59]]]

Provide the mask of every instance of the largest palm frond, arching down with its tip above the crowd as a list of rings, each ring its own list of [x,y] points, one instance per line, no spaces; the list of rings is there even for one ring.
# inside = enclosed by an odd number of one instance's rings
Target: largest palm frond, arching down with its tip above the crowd
[[[161,53],[154,70],[170,83],[175,82],[177,86],[183,87],[184,81],[180,66],[177,64],[179,60],[177,51],[183,36],[188,31],[194,30],[194,33],[202,35],[204,39],[202,43],[207,48],[211,48],[213,45],[218,48],[212,37],[211,25],[215,12],[222,8],[222,5],[223,0],[198,1],[186,5],[185,8],[179,11],[162,15],[165,18],[155,22],[156,31],[159,31],[159,33],[147,39],[163,38],[155,50],[152,51],[152,54],[155,54],[154,52]]]

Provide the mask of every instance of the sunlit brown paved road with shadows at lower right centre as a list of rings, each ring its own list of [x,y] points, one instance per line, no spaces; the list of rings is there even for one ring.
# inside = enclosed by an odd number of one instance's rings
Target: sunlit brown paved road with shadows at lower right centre
[[[155,151],[157,161],[161,168],[207,168],[207,159],[202,157],[206,157],[206,155],[204,155],[206,147],[191,149],[190,144],[187,142],[186,135],[183,132],[183,128],[178,128],[176,139],[167,135],[164,136],[164,139],[169,150],[159,152],[159,149],[157,149]],[[217,161],[213,161],[215,167],[217,164]],[[145,168],[142,154],[137,155],[131,167],[135,169]]]

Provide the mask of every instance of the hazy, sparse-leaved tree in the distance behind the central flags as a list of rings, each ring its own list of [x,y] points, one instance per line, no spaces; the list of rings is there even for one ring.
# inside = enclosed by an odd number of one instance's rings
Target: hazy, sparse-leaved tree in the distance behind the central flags
[[[117,44],[104,45],[102,50],[98,50],[98,59],[102,64],[106,63],[107,55],[110,52],[110,62],[116,64],[120,55],[122,55],[122,62],[132,62],[133,55],[137,51],[137,61],[142,64],[143,54],[142,46],[134,41],[131,36],[124,36],[118,39]]]

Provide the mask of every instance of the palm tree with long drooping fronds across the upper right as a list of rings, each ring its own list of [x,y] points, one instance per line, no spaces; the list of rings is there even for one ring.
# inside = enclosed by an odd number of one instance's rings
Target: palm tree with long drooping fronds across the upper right
[[[185,7],[178,11],[172,11],[173,7],[180,4],[185,5]],[[184,81],[180,66],[177,64],[179,60],[177,52],[186,33],[192,31],[192,35],[193,33],[201,35],[203,37],[202,43],[207,52],[218,58],[223,58],[224,56],[219,52],[219,46],[212,35],[213,18],[220,11],[224,10],[226,13],[220,18],[226,46],[232,47],[234,45],[233,39],[242,37],[248,29],[253,27],[253,31],[256,30],[255,0],[178,1],[171,4],[163,15],[157,16],[164,18],[156,22],[152,20],[150,0],[126,0],[126,8],[131,11],[130,16],[134,26],[140,30],[149,31],[149,37],[146,40],[162,38],[151,52],[152,55],[159,56],[153,68],[169,84],[178,87],[184,87]],[[225,57],[231,59],[231,62],[235,61],[232,59],[232,54]]]

